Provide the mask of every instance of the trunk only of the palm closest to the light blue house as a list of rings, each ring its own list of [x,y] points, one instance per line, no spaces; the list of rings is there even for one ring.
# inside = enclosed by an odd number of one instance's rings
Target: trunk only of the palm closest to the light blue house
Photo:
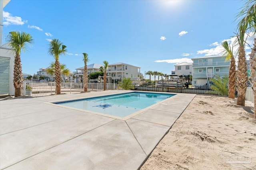
[[[235,98],[235,86],[236,86],[236,61],[234,57],[230,60],[229,67],[229,80],[228,80],[228,98]]]

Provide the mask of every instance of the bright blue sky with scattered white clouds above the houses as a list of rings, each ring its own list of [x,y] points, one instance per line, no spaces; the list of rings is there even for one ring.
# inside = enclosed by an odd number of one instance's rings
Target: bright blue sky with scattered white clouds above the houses
[[[106,60],[139,66],[142,74],[148,70],[171,74],[174,64],[218,55],[223,40],[233,42],[234,20],[243,4],[239,0],[11,0],[4,7],[3,33],[32,35],[34,44],[21,54],[23,72],[32,75],[54,61],[47,53],[54,38],[67,46],[68,54],[60,57],[60,63],[71,71],[84,66],[82,53],[88,53],[88,64]]]

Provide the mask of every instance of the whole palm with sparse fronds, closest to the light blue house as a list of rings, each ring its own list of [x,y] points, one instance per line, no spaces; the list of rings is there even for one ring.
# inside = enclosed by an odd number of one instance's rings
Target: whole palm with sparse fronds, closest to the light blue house
[[[224,41],[222,44],[224,50],[222,53],[226,56],[226,61],[230,61],[229,74],[228,74],[228,98],[235,98],[235,87],[236,87],[236,61],[233,55],[233,45],[232,48],[228,41]]]

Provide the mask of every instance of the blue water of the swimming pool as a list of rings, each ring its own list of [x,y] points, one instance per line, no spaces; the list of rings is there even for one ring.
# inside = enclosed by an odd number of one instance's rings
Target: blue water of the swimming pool
[[[175,94],[132,92],[96,98],[56,102],[62,106],[126,117],[136,111],[170,98]]]

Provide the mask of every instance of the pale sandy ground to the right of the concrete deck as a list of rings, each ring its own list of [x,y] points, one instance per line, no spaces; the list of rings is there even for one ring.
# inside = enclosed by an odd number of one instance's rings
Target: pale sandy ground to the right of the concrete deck
[[[197,95],[141,170],[256,170],[253,104]],[[248,113],[250,112],[250,113]]]

